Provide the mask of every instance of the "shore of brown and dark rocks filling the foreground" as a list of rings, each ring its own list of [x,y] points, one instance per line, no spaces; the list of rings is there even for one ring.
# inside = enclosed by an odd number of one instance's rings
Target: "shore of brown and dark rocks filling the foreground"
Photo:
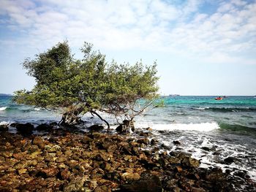
[[[132,135],[16,126],[0,128],[0,191],[255,191],[245,172],[200,168],[189,153]],[[27,129],[26,129],[27,127]],[[25,129],[24,129],[25,128]],[[23,130],[23,131],[20,131]],[[26,130],[26,131],[24,131]],[[19,133],[20,132],[20,133]],[[154,136],[153,136],[154,137]],[[178,141],[174,141],[178,144]]]

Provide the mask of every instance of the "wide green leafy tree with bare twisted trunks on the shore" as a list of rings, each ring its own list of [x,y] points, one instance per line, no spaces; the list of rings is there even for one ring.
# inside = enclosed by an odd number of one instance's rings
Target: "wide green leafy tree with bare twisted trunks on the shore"
[[[13,100],[48,110],[63,109],[61,124],[75,125],[90,112],[105,121],[98,112],[133,120],[146,109],[156,107],[157,64],[143,66],[108,64],[105,55],[92,50],[85,42],[83,59],[75,59],[67,42],[61,42],[45,53],[27,58],[23,67],[34,77],[31,91],[15,92]]]

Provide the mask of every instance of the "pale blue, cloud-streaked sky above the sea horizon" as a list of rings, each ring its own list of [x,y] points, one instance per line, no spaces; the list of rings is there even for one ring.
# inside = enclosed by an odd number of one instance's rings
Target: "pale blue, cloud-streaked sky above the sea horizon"
[[[64,40],[157,61],[162,95],[256,95],[256,0],[0,0],[0,93],[31,90],[24,59]]]

